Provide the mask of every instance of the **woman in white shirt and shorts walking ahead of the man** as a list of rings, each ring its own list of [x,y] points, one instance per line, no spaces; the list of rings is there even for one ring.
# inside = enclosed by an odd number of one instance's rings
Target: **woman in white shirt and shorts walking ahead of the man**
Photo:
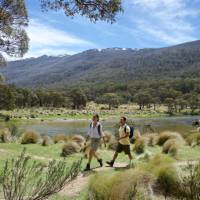
[[[96,153],[100,144],[101,144],[101,138],[103,138],[103,140],[104,140],[102,125],[99,122],[99,115],[98,114],[95,114],[92,117],[92,123],[90,123],[89,130],[88,130],[88,136],[87,136],[86,141],[89,138],[91,140],[90,152],[89,152],[88,163],[87,163],[84,171],[90,170],[90,163],[91,163],[93,157],[95,157],[97,159],[97,161],[100,164],[100,167],[103,166],[103,160]],[[104,145],[105,145],[105,141],[104,141]]]

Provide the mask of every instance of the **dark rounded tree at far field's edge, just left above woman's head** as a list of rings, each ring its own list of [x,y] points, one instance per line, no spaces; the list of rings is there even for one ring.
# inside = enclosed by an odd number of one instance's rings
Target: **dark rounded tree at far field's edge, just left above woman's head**
[[[70,91],[69,97],[72,101],[73,109],[80,109],[81,107],[85,107],[87,103],[87,97],[83,90],[80,88],[75,88]]]

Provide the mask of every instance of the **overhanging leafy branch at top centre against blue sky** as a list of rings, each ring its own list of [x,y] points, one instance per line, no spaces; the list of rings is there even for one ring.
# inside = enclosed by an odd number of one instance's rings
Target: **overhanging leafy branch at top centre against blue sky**
[[[114,22],[115,16],[122,11],[121,0],[41,0],[42,9],[63,9],[66,16],[77,14],[89,18],[91,21],[103,20]]]

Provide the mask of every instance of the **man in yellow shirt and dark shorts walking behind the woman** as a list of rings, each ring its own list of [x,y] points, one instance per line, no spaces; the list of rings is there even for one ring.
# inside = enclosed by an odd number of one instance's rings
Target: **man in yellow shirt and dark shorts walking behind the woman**
[[[118,156],[118,153],[124,152],[126,155],[128,155],[130,159],[130,166],[132,164],[132,155],[130,150],[130,127],[126,124],[126,117],[121,117],[120,119],[120,128],[119,128],[119,139],[118,139],[118,145],[117,149],[115,151],[115,154],[113,156],[113,159],[111,161],[107,161],[106,163],[113,167],[114,162]]]

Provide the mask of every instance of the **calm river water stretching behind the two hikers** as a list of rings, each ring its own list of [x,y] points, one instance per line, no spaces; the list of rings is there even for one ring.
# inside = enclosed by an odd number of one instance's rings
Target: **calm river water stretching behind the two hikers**
[[[194,129],[192,122],[199,120],[200,116],[186,116],[186,117],[161,117],[161,118],[133,118],[136,129],[140,132],[161,132],[164,130],[177,131],[182,134],[187,134]],[[132,123],[131,122],[131,123]],[[102,121],[103,129],[114,133],[116,130],[117,120]],[[21,125],[23,130],[35,130],[44,135],[55,134],[81,134],[87,133],[90,120],[54,120],[41,122],[26,122]]]

